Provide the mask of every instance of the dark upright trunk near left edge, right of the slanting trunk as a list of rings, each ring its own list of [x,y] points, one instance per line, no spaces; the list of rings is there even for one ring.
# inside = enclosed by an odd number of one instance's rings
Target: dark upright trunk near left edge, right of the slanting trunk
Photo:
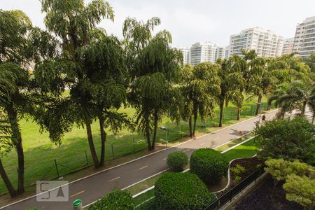
[[[12,142],[15,145],[16,152],[18,153],[18,194],[24,193],[24,151],[22,146],[22,137],[20,126],[18,124],[18,113],[13,108],[13,104],[6,107],[8,119],[12,130]]]

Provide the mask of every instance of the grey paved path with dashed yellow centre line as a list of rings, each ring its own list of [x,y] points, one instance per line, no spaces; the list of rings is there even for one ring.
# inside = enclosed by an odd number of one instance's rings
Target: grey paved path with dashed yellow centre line
[[[276,111],[266,114],[267,120],[274,117]],[[166,158],[168,153],[174,151],[184,151],[188,157],[197,148],[216,148],[233,139],[237,139],[242,134],[251,132],[255,127],[255,122],[259,116],[244,120],[235,125],[225,127],[216,132],[205,134],[197,139],[186,141],[184,143],[168,148],[167,150],[158,151],[146,155],[142,158],[132,160],[123,165],[118,165],[111,169],[106,169],[97,174],[86,176],[69,183],[69,201],[68,202],[36,202],[36,196],[29,197],[20,202],[15,202],[0,209],[28,209],[37,207],[39,209],[72,209],[73,200],[83,200],[83,206],[98,200],[103,195],[110,193],[112,190],[123,189],[127,186],[137,183],[143,179],[158,174],[165,170]],[[57,190],[51,190],[50,195],[56,195]]]

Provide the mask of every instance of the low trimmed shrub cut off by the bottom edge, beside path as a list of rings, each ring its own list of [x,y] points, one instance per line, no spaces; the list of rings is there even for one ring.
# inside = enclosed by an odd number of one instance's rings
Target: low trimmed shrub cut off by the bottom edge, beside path
[[[126,190],[116,190],[94,202],[89,207],[89,210],[132,210],[134,209],[134,201],[131,194]]]

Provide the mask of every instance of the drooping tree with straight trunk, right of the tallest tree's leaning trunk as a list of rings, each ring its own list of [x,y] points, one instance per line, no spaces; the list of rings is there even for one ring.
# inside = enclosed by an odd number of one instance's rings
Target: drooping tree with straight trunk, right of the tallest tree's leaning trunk
[[[90,95],[90,104],[99,120],[102,143],[99,165],[104,165],[105,129],[117,133],[123,125],[131,124],[125,113],[118,113],[127,99],[124,52],[116,37],[100,31],[99,37],[78,50],[78,57],[87,71],[88,80],[83,81],[83,91]]]

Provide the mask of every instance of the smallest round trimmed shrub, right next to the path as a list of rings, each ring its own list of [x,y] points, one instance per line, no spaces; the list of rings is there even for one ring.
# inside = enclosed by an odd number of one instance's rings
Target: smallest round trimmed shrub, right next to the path
[[[188,165],[188,156],[182,151],[170,153],[167,157],[167,167],[172,172],[182,172],[186,165]]]

